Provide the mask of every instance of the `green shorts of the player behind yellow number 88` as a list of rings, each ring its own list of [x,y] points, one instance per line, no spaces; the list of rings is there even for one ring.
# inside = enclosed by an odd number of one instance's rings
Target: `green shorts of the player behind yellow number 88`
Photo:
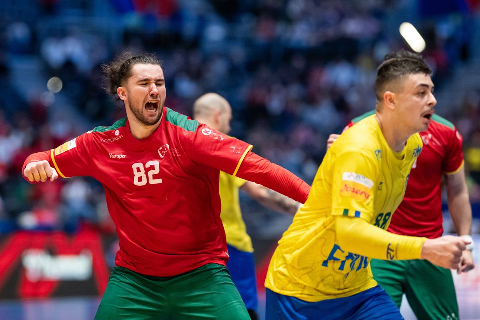
[[[373,278],[400,308],[403,293],[419,320],[459,319],[451,271],[426,260],[371,261]]]

